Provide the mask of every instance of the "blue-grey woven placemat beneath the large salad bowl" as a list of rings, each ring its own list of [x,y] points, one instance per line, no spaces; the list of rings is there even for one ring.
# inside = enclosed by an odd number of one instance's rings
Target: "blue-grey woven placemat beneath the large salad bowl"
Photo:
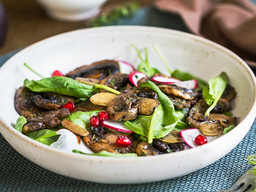
[[[123,25],[148,25],[188,31],[182,20],[153,8],[141,9]],[[0,56],[0,66],[19,50]],[[0,191],[170,191],[214,192],[230,187],[251,165],[245,157],[255,154],[256,121],[245,138],[230,153],[204,169],[175,179],[145,184],[110,185],[75,180],[45,170],[17,153],[0,134]],[[188,161],[189,163],[189,161]],[[134,170],[136,172],[136,170]]]

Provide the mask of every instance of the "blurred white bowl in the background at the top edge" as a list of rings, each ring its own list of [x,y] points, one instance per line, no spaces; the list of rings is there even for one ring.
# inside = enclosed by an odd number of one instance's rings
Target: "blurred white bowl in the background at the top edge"
[[[56,20],[79,21],[88,19],[100,11],[107,0],[36,0],[47,14]]]

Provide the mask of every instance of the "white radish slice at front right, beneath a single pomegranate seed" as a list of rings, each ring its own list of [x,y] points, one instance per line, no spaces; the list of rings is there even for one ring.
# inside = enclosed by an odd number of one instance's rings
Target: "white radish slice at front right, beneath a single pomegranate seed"
[[[199,134],[200,135],[204,135],[197,128],[184,129],[184,130],[180,131],[180,136],[182,137],[182,139],[184,139],[185,143],[187,143],[188,146],[190,146],[192,148],[195,148],[195,147],[199,146],[199,145],[197,145],[195,143],[195,138]],[[220,135],[216,135],[216,136],[207,136],[207,135],[204,135],[204,136],[207,138],[207,142],[210,142],[210,141],[215,140],[218,137],[220,137],[221,134]]]

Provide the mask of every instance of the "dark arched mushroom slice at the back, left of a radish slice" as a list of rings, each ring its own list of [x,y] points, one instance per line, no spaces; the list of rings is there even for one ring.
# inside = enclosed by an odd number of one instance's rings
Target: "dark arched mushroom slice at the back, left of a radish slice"
[[[84,65],[70,71],[66,76],[75,79],[76,77],[104,79],[109,74],[118,73],[120,71],[118,62],[114,60],[102,60],[91,65]]]

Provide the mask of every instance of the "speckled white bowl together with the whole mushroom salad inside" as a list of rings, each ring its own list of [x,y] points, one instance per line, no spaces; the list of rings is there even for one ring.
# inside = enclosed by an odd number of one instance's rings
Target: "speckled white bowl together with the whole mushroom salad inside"
[[[202,169],[236,147],[256,112],[255,76],[241,58],[164,28],[53,36],[10,58],[0,81],[5,140],[45,169],[102,183]]]

